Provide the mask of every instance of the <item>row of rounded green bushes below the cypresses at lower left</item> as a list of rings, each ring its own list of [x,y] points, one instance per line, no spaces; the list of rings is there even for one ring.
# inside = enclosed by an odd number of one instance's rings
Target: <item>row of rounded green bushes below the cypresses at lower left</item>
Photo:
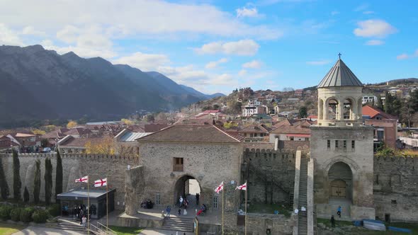
[[[14,222],[35,222],[45,223],[51,216],[50,212],[56,213],[57,205],[48,207],[47,210],[37,209],[34,207],[13,207],[11,205],[0,205],[0,219],[11,219]]]

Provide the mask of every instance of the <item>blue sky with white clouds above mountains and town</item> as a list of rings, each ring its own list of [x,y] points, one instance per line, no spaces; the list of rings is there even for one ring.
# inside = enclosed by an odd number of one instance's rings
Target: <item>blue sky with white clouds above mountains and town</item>
[[[401,4],[402,3],[402,4]],[[0,0],[0,45],[159,71],[204,93],[418,77],[418,1]]]

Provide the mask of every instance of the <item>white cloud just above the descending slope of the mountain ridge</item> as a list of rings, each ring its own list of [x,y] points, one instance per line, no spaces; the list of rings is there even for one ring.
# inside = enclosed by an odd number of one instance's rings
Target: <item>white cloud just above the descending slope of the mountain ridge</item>
[[[144,54],[142,52],[136,52],[133,55],[120,57],[112,61],[113,64],[128,64],[142,71],[156,71],[169,62],[170,59],[166,55]]]

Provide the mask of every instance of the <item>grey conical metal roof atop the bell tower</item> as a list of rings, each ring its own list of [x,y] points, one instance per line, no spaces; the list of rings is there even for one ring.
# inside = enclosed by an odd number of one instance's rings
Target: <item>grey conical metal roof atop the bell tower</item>
[[[333,86],[363,86],[363,84],[349,67],[341,59],[338,59],[317,88]]]

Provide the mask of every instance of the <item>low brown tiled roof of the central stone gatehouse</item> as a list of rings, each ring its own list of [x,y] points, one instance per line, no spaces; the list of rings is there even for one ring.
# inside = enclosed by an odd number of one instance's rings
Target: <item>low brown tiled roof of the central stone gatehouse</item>
[[[138,142],[220,142],[239,143],[242,136],[228,134],[214,125],[171,125],[137,139]]]

